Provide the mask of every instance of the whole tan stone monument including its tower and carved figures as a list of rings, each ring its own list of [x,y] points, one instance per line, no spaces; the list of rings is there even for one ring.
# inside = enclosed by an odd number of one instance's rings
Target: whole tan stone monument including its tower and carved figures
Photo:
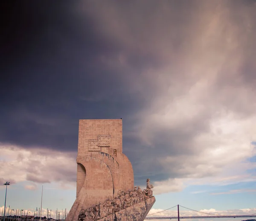
[[[155,202],[153,185],[134,186],[122,119],[79,120],[76,162],[76,201],[65,221],[143,221]]]

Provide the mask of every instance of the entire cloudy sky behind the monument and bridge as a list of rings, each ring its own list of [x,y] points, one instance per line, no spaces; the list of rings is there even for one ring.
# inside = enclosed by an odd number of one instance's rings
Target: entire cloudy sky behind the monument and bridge
[[[20,1],[2,11],[7,206],[33,212],[44,185],[43,208],[69,210],[79,119],[122,118],[123,152],[136,185],[151,178],[155,211],[256,213],[255,0]],[[4,194],[2,185],[2,208]]]

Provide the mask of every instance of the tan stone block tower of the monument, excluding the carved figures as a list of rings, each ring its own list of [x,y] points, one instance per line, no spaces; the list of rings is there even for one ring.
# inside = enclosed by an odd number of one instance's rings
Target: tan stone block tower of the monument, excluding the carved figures
[[[81,208],[134,188],[134,173],[122,153],[122,119],[79,120],[77,191],[66,221],[77,221]]]

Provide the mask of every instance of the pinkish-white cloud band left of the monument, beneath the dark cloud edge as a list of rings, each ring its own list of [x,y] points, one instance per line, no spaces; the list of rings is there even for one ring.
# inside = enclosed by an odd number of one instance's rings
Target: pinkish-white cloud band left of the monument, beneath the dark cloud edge
[[[31,181],[25,189],[36,189],[36,183],[59,184],[59,188],[75,188],[76,159],[73,153],[43,148],[25,149],[0,144],[0,177],[14,182]]]

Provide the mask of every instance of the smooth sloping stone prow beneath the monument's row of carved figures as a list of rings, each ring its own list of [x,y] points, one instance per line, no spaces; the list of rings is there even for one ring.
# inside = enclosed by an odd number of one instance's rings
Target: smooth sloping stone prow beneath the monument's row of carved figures
[[[119,212],[98,219],[97,221],[143,221],[155,201],[156,199],[153,196],[138,204],[122,209]]]

